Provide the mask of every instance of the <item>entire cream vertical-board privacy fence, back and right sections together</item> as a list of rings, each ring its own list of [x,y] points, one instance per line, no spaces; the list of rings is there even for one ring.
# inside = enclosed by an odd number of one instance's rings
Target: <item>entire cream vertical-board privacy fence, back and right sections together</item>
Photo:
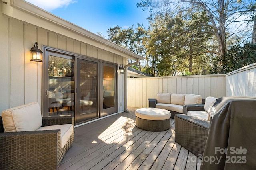
[[[148,99],[157,93],[200,94],[214,96],[256,97],[256,63],[228,74],[128,78],[127,106],[148,107]]]

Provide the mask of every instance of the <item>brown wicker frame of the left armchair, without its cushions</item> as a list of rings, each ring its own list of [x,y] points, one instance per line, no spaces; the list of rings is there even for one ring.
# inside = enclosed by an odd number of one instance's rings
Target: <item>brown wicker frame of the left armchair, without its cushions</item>
[[[0,116],[0,169],[58,169],[74,142],[74,118],[42,117],[42,126],[62,124],[73,124],[73,133],[61,149],[60,130],[4,133]]]

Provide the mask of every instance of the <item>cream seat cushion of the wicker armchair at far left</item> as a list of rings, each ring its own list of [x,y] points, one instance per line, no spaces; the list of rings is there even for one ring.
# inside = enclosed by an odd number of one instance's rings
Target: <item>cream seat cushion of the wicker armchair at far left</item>
[[[37,131],[45,131],[45,130],[58,130],[60,129],[60,147],[63,148],[67,143],[69,137],[73,133],[73,125],[72,124],[64,124],[64,125],[53,125],[53,126],[43,126],[37,129]]]

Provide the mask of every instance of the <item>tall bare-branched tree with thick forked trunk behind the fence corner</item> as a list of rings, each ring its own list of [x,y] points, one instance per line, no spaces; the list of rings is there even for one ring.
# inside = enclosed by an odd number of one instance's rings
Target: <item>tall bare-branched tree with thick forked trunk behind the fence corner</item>
[[[246,16],[255,16],[256,4],[254,0],[164,0],[164,1],[152,1],[142,0],[137,6],[146,9],[150,8],[151,13],[154,13],[153,9],[168,9],[174,10],[178,4],[183,5],[183,9],[186,10],[192,5],[204,9],[210,19],[210,26],[213,33],[218,40],[218,72],[220,73],[220,67],[225,63],[226,52],[226,31],[230,26],[239,21],[240,18]],[[231,30],[230,30],[231,31]],[[230,34],[232,36],[233,34]]]

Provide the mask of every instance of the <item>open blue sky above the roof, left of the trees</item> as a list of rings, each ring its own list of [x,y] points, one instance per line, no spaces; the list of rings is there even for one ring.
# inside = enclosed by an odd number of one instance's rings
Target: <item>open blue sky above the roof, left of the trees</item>
[[[148,11],[137,8],[140,0],[26,0],[92,33],[107,36],[108,28],[128,28],[137,23],[148,28]]]

